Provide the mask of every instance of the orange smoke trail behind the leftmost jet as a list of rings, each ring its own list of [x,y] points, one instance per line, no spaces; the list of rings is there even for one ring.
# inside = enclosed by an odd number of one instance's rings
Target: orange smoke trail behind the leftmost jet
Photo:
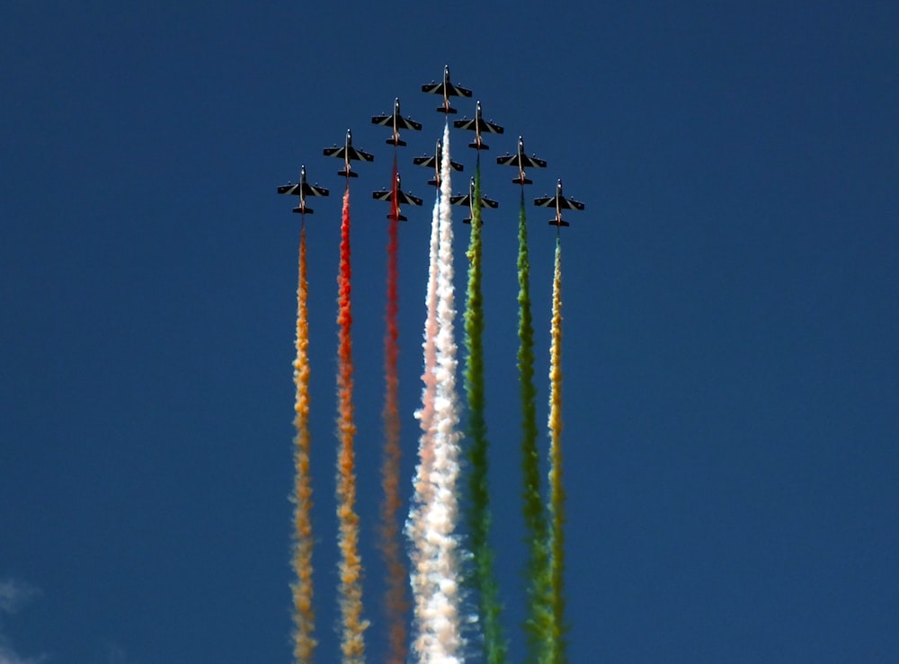
[[[293,381],[297,385],[294,426],[293,465],[293,570],[297,580],[293,591],[295,626],[293,657],[300,663],[312,661],[316,649],[316,615],[312,609],[312,484],[309,481],[309,323],[307,319],[306,226],[299,234],[299,282],[297,287],[297,359],[293,363]]]

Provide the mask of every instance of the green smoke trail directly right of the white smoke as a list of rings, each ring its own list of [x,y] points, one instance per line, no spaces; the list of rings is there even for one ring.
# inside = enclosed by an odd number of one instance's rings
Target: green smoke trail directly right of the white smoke
[[[478,613],[484,624],[486,660],[500,664],[506,660],[507,645],[500,624],[498,586],[494,577],[494,552],[490,548],[490,492],[487,491],[489,460],[487,425],[484,416],[484,300],[481,292],[481,160],[475,167],[475,190],[471,201],[471,236],[468,243],[468,289],[465,309],[467,349],[465,390],[468,397],[468,434],[471,464],[468,478],[468,524],[475,570],[468,580],[477,593]]]

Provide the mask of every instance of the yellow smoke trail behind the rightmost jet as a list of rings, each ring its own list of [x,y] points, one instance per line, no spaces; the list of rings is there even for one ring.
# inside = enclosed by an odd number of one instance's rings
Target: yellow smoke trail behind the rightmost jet
[[[556,237],[553,276],[552,341],[549,347],[549,535],[553,607],[553,662],[564,664],[565,653],[565,490],[562,487],[562,244]]]

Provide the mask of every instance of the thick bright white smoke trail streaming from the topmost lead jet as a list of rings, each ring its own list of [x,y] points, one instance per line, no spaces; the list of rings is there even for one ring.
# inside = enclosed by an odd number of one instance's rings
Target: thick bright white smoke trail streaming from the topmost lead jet
[[[456,398],[456,341],[453,320],[456,317],[453,288],[452,191],[449,168],[449,122],[443,130],[441,163],[440,241],[437,252],[437,334],[434,338],[436,364],[432,465],[429,500],[423,506],[424,548],[427,558],[418,562],[414,581],[423,583],[421,607],[416,606],[418,636],[415,650],[422,662],[458,664],[462,648],[459,625],[458,537],[456,518],[456,479],[458,477],[458,405]]]

